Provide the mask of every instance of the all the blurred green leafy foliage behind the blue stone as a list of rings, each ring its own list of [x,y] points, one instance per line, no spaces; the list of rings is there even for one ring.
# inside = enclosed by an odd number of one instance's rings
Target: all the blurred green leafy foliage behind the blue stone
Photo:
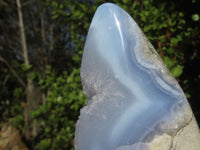
[[[44,2],[52,21],[62,20],[62,23],[69,27],[67,34],[70,36],[70,44],[73,45],[73,57],[68,65],[70,67],[58,71],[54,65],[48,65],[45,72],[41,73],[34,65],[26,67],[22,63],[13,63],[18,65],[16,68],[20,74],[28,76],[45,94],[45,102],[31,112],[32,118],[40,122],[40,130],[32,141],[27,141],[30,149],[74,149],[75,123],[80,108],[86,104],[80,79],[81,56],[92,16],[97,7],[104,2],[108,1],[46,0]],[[196,71],[198,67],[193,66],[194,64],[198,66],[200,60],[199,12],[195,9],[188,12],[184,8],[187,7],[187,3],[184,4],[180,0],[178,4],[172,0],[111,0],[110,2],[125,9],[135,19],[194,105],[192,99],[196,98],[195,92],[198,93],[200,90],[200,73]],[[191,8],[199,4],[196,1],[191,3]],[[56,61],[57,58],[54,59]],[[194,67],[196,72],[192,70]],[[0,86],[4,87],[0,90],[1,122],[11,121],[23,133],[26,91],[16,83],[8,70],[1,70]],[[196,108],[195,115],[197,119],[200,118],[199,108]]]

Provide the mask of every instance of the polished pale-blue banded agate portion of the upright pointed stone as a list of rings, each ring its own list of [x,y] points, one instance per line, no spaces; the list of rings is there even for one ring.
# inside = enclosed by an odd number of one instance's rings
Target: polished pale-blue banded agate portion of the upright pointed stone
[[[87,106],[76,124],[76,150],[144,150],[173,135],[191,114],[187,100],[135,21],[101,5],[85,43],[81,78]]]

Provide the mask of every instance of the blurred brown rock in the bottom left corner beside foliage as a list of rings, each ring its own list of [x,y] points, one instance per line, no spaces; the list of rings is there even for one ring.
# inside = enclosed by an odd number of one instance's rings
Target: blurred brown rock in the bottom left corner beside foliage
[[[9,124],[0,125],[0,150],[28,150],[19,131]]]

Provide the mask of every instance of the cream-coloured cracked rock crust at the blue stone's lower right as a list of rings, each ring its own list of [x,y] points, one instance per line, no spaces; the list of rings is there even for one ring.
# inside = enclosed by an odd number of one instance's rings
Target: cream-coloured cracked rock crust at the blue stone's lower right
[[[148,145],[151,150],[199,150],[200,133],[195,118],[192,117],[174,136],[155,136]]]

